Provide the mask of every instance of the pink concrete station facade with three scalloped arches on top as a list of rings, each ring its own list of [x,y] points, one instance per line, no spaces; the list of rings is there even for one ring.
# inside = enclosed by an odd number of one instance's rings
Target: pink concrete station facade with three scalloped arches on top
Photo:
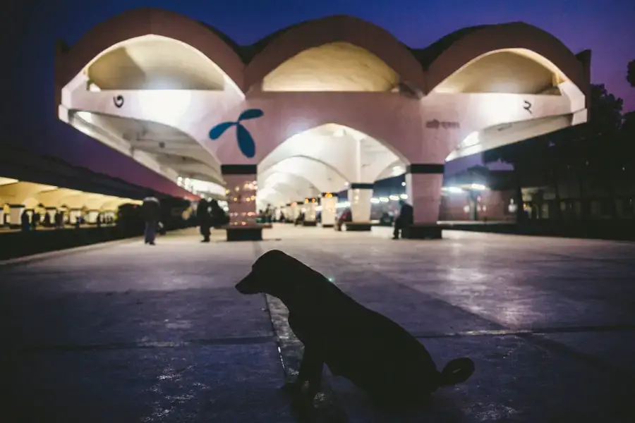
[[[454,95],[433,92],[437,85],[459,68],[491,51],[526,49],[539,54],[567,75],[571,85],[583,94],[583,103],[586,102],[589,85],[588,55],[575,56],[552,35],[524,23],[475,28],[462,37],[456,37],[453,42],[441,42],[442,47],[428,51],[426,59],[418,59],[411,49],[382,28],[349,16],[332,16],[284,30],[247,57],[246,54],[241,55],[239,47],[226,42],[195,20],[169,11],[140,8],[97,25],[70,49],[58,46],[56,106],[63,104],[63,88],[87,63],[114,44],[144,35],[176,39],[197,49],[219,66],[244,94],[243,99],[234,99],[225,106],[210,106],[209,102],[205,104],[204,99],[201,99],[200,104],[192,103],[200,115],[197,124],[201,126],[198,130],[188,130],[192,126],[188,123],[188,128],[182,128],[222,165],[258,165],[289,137],[320,125],[337,123],[378,140],[409,168],[422,168],[418,165],[425,165],[428,170],[430,166],[442,169],[448,155],[470,133],[508,122],[569,116],[584,109],[585,104],[577,105],[579,100],[574,99],[574,94],[555,98],[536,94]],[[409,97],[394,92],[260,90],[263,78],[284,61],[301,51],[331,42],[348,42],[375,54],[399,75],[401,82],[419,92],[419,96]],[[90,96],[97,99],[99,94],[103,93],[90,93]],[[133,98],[131,104],[135,104],[135,96],[140,98],[137,102],[139,110],[143,109],[142,94],[126,93]],[[82,95],[87,98],[88,94]],[[75,109],[90,110],[90,101],[84,99],[81,103],[83,106]],[[524,102],[528,101],[533,104],[531,116],[526,116],[526,109],[523,109]],[[484,113],[488,104],[496,104],[499,110],[496,113]],[[63,105],[73,109],[73,104]],[[112,116],[121,116],[118,114],[123,113],[99,107],[95,106],[90,111]],[[241,154],[232,131],[227,131],[214,141],[203,136],[217,123],[236,121],[241,111],[253,108],[264,111],[262,118],[244,123],[256,140],[255,157],[248,158]],[[211,111],[204,114],[204,110]],[[123,117],[131,118],[133,115]],[[152,116],[147,119],[155,120]],[[435,121],[436,126],[433,123]],[[245,180],[253,180],[255,175],[243,179],[236,175],[227,178],[229,180],[225,182],[229,188],[231,183],[239,183],[239,180],[244,183]],[[441,204],[442,170],[422,173],[412,171],[408,178],[411,181],[408,192],[415,209],[416,222],[435,223]],[[234,203],[230,202],[230,209],[238,207],[231,204]],[[239,208],[235,212],[248,214],[248,209],[255,211],[255,202],[241,203]],[[370,211],[370,204],[368,209]]]

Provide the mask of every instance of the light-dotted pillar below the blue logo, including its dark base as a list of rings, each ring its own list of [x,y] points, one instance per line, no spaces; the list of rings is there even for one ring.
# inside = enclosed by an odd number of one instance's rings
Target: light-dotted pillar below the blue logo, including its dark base
[[[229,224],[225,227],[228,241],[262,240],[262,226],[256,223],[258,191],[255,164],[223,164],[221,173],[226,183]]]

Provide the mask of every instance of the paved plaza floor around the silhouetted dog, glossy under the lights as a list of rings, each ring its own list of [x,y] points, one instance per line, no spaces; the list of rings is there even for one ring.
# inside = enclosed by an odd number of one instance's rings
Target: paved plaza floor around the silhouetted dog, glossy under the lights
[[[635,421],[634,244],[389,229],[210,244],[189,230],[0,266],[0,420]],[[468,356],[476,372],[428,407],[378,410],[325,368],[315,412],[298,415],[277,389],[301,352],[284,308],[234,289],[274,248],[404,326],[438,367]]]

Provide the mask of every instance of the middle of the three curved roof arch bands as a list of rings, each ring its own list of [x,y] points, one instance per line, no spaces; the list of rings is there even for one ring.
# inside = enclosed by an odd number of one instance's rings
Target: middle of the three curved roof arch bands
[[[259,84],[267,74],[301,51],[334,42],[347,42],[370,51],[401,80],[424,90],[421,63],[404,44],[377,25],[343,15],[309,20],[272,35],[267,46],[248,64],[245,87]]]

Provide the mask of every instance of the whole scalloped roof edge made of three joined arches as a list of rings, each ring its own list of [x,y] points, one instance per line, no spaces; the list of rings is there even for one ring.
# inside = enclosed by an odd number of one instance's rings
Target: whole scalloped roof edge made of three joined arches
[[[526,23],[468,27],[423,49],[412,49],[373,23],[351,16],[329,16],[285,27],[250,46],[240,46],[219,30],[178,13],[138,8],[110,18],[88,31],[57,66],[66,83],[109,47],[143,35],[178,39],[205,54],[243,92],[301,51],[332,42],[349,42],[380,57],[404,82],[429,92],[478,56],[501,49],[529,49],[555,64],[578,87],[588,85],[588,58],[580,59],[548,32]]]

